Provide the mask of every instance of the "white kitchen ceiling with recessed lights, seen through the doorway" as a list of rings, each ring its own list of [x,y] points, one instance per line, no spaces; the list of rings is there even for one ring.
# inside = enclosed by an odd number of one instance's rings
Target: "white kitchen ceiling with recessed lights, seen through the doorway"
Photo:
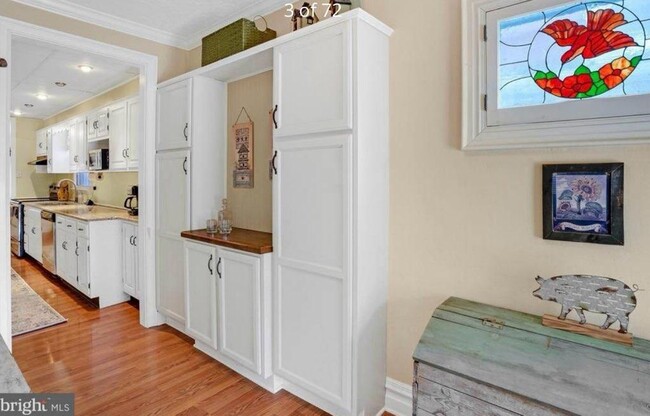
[[[22,117],[48,118],[139,74],[127,64],[48,43],[14,38],[11,46],[11,110],[20,110]],[[93,71],[83,73],[79,65]],[[39,93],[48,99],[36,98]]]

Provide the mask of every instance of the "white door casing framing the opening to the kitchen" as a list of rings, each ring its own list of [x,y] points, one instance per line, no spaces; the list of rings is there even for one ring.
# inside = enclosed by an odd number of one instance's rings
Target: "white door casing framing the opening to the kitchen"
[[[158,79],[158,58],[141,52],[109,45],[80,36],[55,31],[21,22],[14,19],[0,17],[0,56],[6,57],[11,65],[11,38],[12,36],[27,37],[56,45],[79,49],[88,53],[127,62],[140,70],[139,98],[142,102],[139,182],[144,192],[141,195],[142,212],[138,232],[142,236],[139,245],[140,276],[143,280],[143,292],[140,307],[140,323],[145,327],[159,325],[164,322],[162,316],[156,311],[156,276],[155,276],[155,135],[156,135],[156,90]],[[9,100],[11,98],[10,71],[0,70],[0,140],[8,136]],[[0,164],[7,166],[7,146],[0,146]],[[6,195],[7,168],[0,172],[0,205],[8,206]],[[5,341],[11,343],[11,290],[10,288],[10,257],[9,257],[9,218],[7,215],[0,217],[0,334]]]

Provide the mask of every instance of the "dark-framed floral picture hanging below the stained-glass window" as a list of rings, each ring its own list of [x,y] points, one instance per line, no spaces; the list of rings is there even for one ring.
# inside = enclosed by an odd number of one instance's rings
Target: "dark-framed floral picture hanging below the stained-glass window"
[[[624,244],[622,163],[544,165],[544,239]]]

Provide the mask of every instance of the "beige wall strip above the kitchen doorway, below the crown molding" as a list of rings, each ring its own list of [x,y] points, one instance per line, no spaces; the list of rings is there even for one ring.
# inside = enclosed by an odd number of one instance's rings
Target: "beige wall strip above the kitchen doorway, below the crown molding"
[[[0,16],[155,55],[158,57],[159,81],[173,78],[187,70],[189,53],[179,48],[69,19],[11,0],[0,0]]]

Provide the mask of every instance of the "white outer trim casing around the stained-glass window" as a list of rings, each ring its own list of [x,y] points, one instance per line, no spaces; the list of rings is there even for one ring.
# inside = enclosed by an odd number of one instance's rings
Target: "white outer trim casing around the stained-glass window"
[[[649,115],[488,126],[487,112],[483,109],[483,95],[487,94],[487,44],[483,41],[483,25],[487,23],[488,12],[523,1],[463,0],[463,150],[650,143]],[[558,0],[539,1],[543,5]]]

